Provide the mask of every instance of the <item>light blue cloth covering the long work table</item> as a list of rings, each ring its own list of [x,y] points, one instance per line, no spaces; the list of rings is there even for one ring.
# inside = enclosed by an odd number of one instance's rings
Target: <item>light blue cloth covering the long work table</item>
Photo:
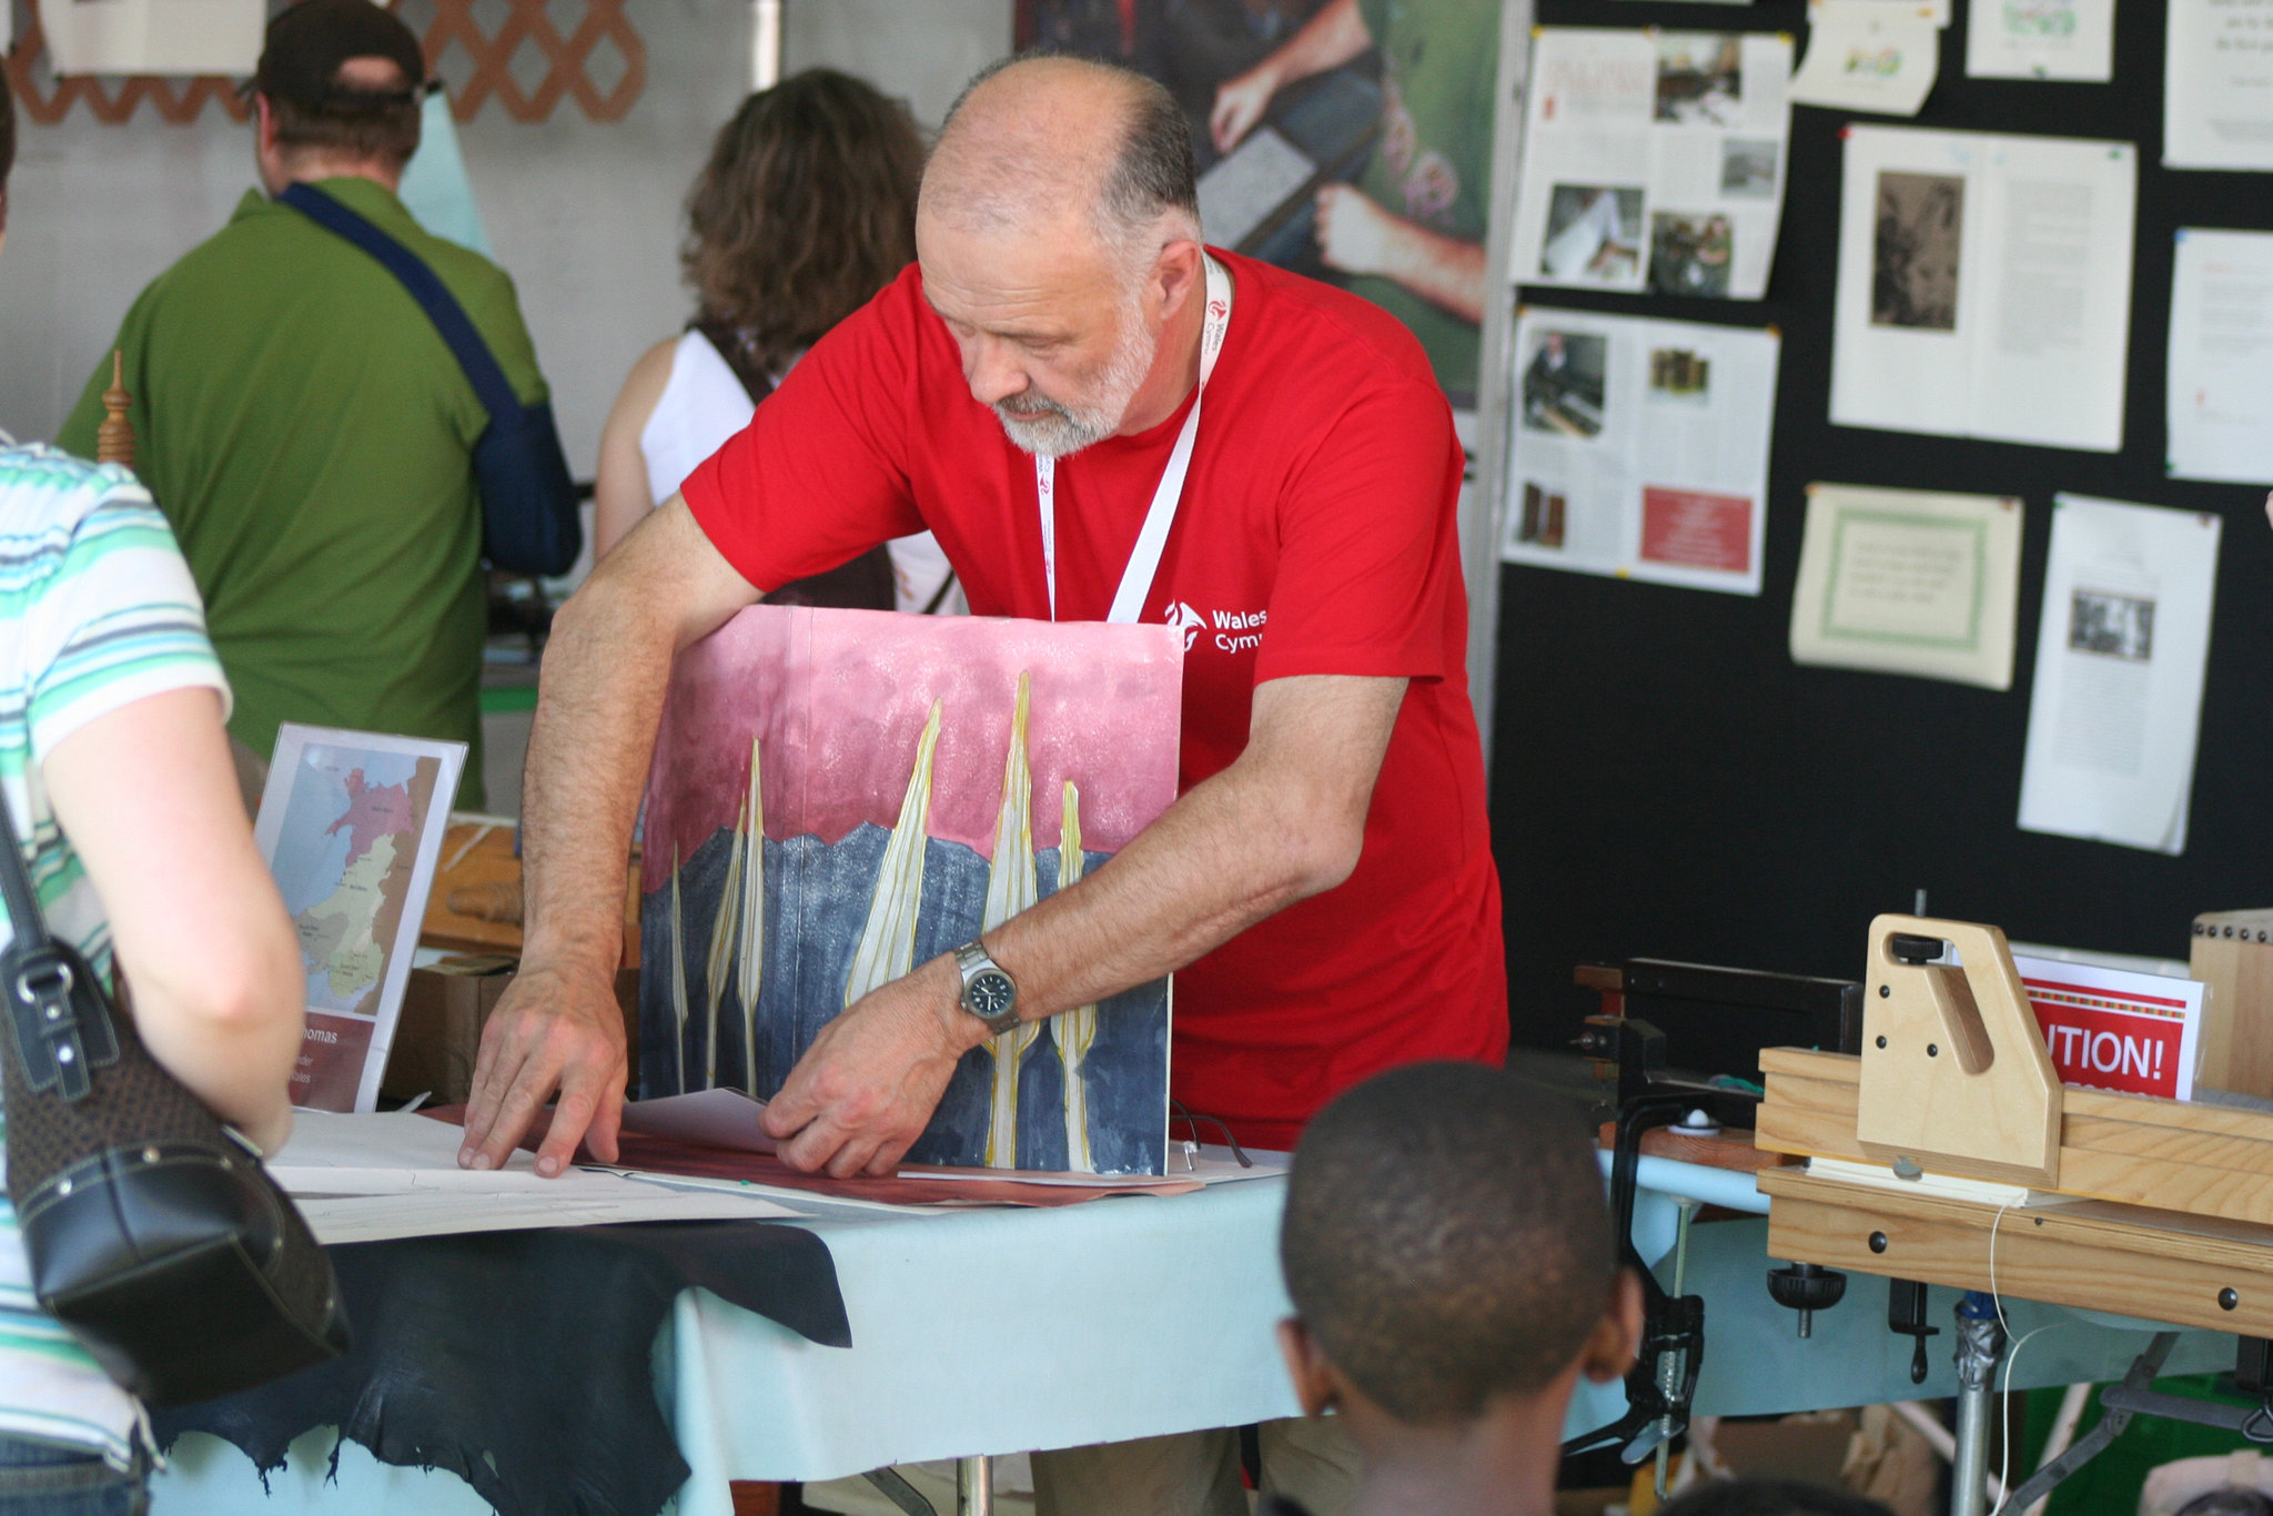
[[[1909,1382],[1905,1336],[1887,1332],[1882,1280],[1852,1277],[1846,1302],[1800,1341],[1768,1300],[1766,1198],[1750,1175],[1641,1161],[1634,1236],[1643,1257],[1673,1246],[1675,1196],[1752,1211],[1693,1227],[1691,1293],[1707,1300],[1698,1414],[1768,1414],[1955,1393],[1950,1332],[1932,1375]],[[1177,1198],[1100,1200],[1048,1211],[880,1214],[814,1207],[805,1225],[834,1259],[852,1348],[816,1348],[761,1316],[686,1291],[659,1334],[657,1396],[693,1475],[680,1516],[727,1516],[730,1480],[830,1480],[882,1464],[1014,1452],[1098,1439],[1241,1425],[1296,1411],[1273,1323],[1282,1180]],[[764,1225],[764,1223],[755,1223]],[[1955,1291],[1937,1289],[1946,1321]],[[2016,1332],[2064,1321],[2023,1355],[2016,1384],[2123,1373],[2143,1339],[2053,1307],[2007,1302]],[[2225,1366],[2232,1339],[2189,1332],[2171,1373]],[[1616,1384],[1584,1386],[1571,1432],[1623,1411]],[[486,1507],[450,1475],[391,1468],[357,1446],[325,1482],[327,1434],[293,1446],[270,1477],[225,1443],[184,1439],[155,1484],[157,1516],[291,1516]]]

